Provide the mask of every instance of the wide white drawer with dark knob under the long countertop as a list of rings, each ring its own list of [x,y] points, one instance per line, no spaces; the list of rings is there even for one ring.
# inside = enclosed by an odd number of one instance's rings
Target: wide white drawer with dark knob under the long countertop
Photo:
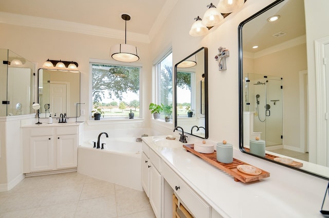
[[[210,205],[199,197],[167,164],[162,166],[162,175],[195,217],[211,217]]]

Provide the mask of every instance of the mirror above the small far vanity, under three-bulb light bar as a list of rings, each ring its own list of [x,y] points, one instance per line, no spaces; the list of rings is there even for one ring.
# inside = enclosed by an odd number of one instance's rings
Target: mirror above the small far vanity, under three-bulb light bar
[[[38,87],[40,117],[80,116],[80,71],[39,69]]]

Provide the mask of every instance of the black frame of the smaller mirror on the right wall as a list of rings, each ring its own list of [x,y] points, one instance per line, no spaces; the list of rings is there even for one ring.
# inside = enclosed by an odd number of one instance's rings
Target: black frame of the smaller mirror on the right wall
[[[194,56],[197,52],[199,51],[205,51],[205,55],[204,55],[204,63],[205,63],[205,71],[204,71],[204,76],[205,76],[205,137],[200,137],[200,136],[196,136],[199,138],[204,138],[207,139],[209,137],[209,113],[208,113],[208,48],[207,47],[201,47],[198,50],[194,51],[192,54],[190,54],[188,57],[186,57],[185,59],[188,59],[192,56]],[[184,60],[185,60],[184,59]],[[181,60],[180,62],[178,62],[177,64],[175,64],[175,126],[177,126],[177,112],[176,112],[176,108],[177,108],[177,92],[176,92],[176,87],[177,87],[177,65],[180,64],[181,62],[183,62],[184,60]],[[189,135],[191,135],[188,132],[184,132],[187,133]]]

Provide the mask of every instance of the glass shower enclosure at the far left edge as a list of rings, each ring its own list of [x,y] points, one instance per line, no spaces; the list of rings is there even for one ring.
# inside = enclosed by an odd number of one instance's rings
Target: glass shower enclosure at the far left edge
[[[0,117],[33,114],[35,65],[0,49]]]

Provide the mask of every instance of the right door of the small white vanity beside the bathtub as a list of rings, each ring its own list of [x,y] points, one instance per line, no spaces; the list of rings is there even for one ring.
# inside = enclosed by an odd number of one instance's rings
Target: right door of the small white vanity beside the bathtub
[[[77,167],[78,135],[57,136],[57,169]]]

